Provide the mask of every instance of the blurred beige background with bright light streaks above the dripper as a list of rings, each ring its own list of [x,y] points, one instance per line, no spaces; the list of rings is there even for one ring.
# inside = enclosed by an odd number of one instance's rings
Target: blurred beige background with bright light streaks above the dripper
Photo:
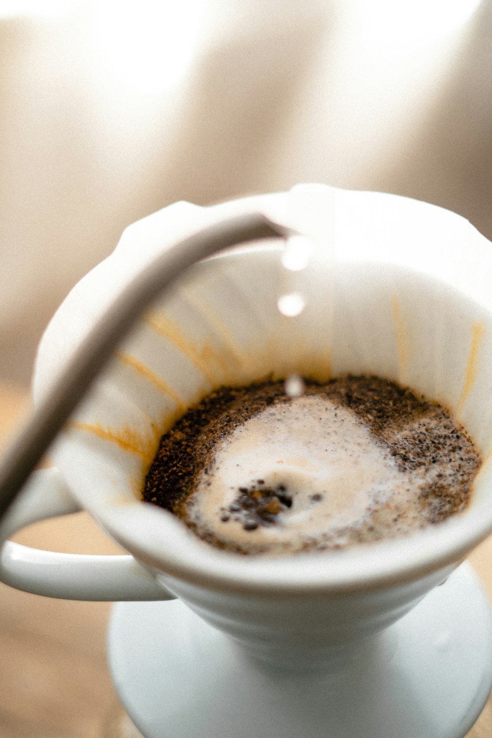
[[[0,377],[131,221],[295,182],[492,235],[490,0],[0,1]]]

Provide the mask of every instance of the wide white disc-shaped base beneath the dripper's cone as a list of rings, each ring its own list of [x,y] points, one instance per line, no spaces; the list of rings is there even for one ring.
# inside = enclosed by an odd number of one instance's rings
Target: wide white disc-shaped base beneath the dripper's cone
[[[108,652],[145,738],[462,738],[491,691],[492,615],[463,564],[331,675],[260,666],[180,601],[116,604]]]

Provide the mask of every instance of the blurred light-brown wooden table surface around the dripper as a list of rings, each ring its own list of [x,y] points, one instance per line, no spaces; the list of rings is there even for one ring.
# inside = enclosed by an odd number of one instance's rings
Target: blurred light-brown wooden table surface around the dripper
[[[0,382],[0,448],[28,405],[26,390]],[[120,553],[84,513],[37,523],[15,540],[69,553]],[[470,560],[492,601],[492,537]],[[105,655],[110,607],[38,597],[0,584],[0,738],[123,735],[115,728],[122,711]],[[138,735],[129,724],[126,730],[128,738]],[[492,698],[467,738],[491,736]]]

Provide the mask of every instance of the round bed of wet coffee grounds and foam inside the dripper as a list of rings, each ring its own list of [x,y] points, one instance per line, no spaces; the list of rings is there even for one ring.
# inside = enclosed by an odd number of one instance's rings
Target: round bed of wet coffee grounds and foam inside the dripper
[[[346,548],[440,523],[481,458],[442,406],[378,377],[222,387],[161,440],[144,500],[240,554]]]

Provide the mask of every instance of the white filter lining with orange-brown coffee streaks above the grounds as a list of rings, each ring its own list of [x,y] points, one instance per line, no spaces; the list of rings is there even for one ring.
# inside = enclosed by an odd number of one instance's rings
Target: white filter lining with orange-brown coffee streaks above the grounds
[[[154,304],[55,446],[55,462],[75,496],[123,545],[133,536],[142,558],[159,559],[163,570],[170,558],[175,569],[191,568],[184,560],[198,547],[210,573],[215,561],[234,555],[192,540],[170,514],[138,502],[162,432],[221,384],[290,373],[320,381],[374,373],[443,402],[476,441],[485,458],[472,506],[476,527],[469,540],[476,542],[492,527],[491,244],[460,216],[429,204],[304,186],[210,208],[179,204],[151,215],[125,232],[114,254],[55,315],[38,353],[35,396],[97,311],[159,249],[215,218],[258,207],[308,231],[314,244],[308,266],[285,269],[280,241],[240,247],[195,266]],[[322,217],[309,232],[317,211]],[[291,293],[302,296],[305,308],[286,317],[278,299]],[[128,509],[137,506],[130,515],[145,517],[144,537],[131,532]],[[472,509],[467,515],[473,517]],[[442,545],[443,552],[452,546],[444,538]]]

